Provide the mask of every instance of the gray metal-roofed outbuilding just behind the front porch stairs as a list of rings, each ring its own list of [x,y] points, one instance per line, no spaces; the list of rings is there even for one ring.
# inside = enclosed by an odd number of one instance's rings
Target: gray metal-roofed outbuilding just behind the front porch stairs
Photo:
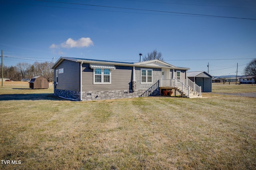
[[[187,72],[187,77],[201,86],[202,92],[212,92],[212,76],[205,71]]]

